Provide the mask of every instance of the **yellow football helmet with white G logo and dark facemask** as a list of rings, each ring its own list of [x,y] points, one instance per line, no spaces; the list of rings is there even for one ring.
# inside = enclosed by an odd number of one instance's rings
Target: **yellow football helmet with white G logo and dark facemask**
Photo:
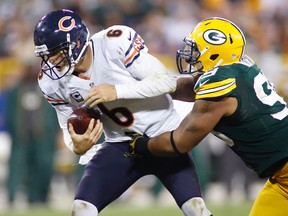
[[[192,74],[239,62],[246,40],[234,23],[212,17],[200,22],[184,43],[184,49],[176,54],[177,67],[181,74]]]

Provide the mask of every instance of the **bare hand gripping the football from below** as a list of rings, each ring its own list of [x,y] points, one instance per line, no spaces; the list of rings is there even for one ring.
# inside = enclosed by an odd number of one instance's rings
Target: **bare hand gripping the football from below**
[[[93,145],[97,143],[103,133],[103,124],[97,120],[94,127],[95,119],[91,119],[89,126],[84,134],[77,134],[74,131],[73,125],[69,124],[69,133],[73,142],[73,150],[78,155],[85,154]]]

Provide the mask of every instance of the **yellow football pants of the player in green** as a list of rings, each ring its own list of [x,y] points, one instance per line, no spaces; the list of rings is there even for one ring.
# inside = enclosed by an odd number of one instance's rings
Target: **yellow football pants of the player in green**
[[[288,216],[288,163],[267,180],[249,216]]]

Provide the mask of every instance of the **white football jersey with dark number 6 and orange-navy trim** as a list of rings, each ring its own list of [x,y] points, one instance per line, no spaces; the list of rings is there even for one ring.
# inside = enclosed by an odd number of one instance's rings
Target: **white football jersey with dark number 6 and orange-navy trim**
[[[42,74],[39,78],[44,96],[56,109],[70,150],[67,119],[73,109],[84,105],[91,86],[103,83],[115,85],[117,92],[116,101],[98,106],[107,142],[130,140],[126,131],[153,137],[179,125],[180,118],[167,94],[176,88],[176,78],[148,53],[140,35],[127,26],[116,25],[94,34],[90,47],[92,65],[81,76],[51,80]],[[89,151],[91,155],[93,151]]]

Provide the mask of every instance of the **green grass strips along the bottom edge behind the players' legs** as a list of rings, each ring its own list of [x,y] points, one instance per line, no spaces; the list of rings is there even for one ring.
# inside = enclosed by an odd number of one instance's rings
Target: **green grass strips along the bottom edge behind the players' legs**
[[[209,205],[209,209],[213,211],[214,216],[247,216],[251,204],[241,205]],[[183,216],[182,212],[177,208],[172,207],[150,207],[150,208],[136,208],[112,205],[103,210],[99,216]],[[57,211],[49,208],[31,209],[31,210],[11,210],[0,212],[0,216],[70,216],[69,211]]]

